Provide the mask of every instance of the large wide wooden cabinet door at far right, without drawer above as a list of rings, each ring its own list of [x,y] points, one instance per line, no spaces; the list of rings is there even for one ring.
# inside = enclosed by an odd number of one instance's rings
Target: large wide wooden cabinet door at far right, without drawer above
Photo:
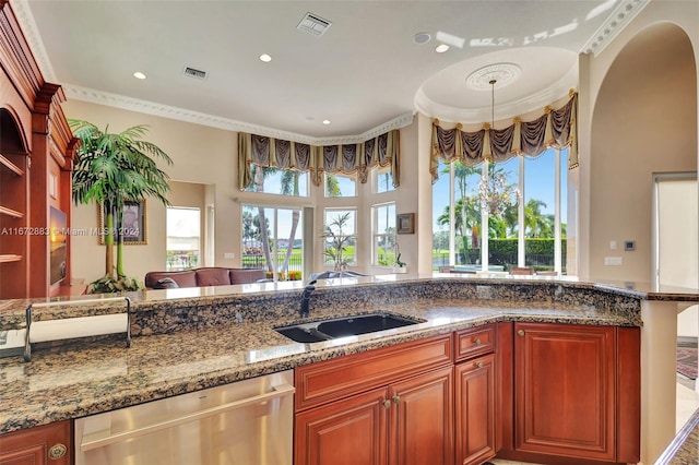
[[[615,458],[615,341],[607,326],[516,323],[516,449]]]

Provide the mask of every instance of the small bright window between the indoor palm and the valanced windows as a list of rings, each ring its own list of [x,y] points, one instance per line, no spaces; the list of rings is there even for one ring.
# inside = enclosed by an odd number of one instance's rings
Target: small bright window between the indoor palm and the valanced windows
[[[199,208],[181,206],[167,208],[166,270],[189,270],[200,266],[200,219]]]

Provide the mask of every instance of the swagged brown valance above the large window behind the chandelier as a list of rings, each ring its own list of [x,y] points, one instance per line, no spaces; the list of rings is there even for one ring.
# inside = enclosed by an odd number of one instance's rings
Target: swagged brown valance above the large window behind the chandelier
[[[517,155],[536,157],[546,148],[568,151],[568,168],[578,166],[578,93],[571,91],[570,99],[559,109],[546,107],[541,117],[532,121],[514,118],[505,129],[490,128],[484,123],[475,132],[455,128],[443,129],[439,120],[433,122],[433,151],[429,171],[433,183],[439,178],[439,159],[446,163],[460,160],[466,166],[476,166],[483,160],[503,163]]]

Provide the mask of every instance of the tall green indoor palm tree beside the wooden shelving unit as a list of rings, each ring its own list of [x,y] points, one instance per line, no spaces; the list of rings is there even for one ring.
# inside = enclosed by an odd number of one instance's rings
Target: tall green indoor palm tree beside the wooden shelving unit
[[[141,140],[145,126],[135,126],[120,133],[100,131],[95,124],[82,120],[69,120],[74,135],[81,141],[73,168],[73,202],[104,205],[105,277],[115,278],[114,243],[117,242],[116,278],[123,281],[123,205],[127,200],[144,200],[153,196],[163,204],[169,202],[169,177],[157,167],[161,159],[168,165],[173,160],[155,144]],[[138,284],[135,285],[138,288]]]

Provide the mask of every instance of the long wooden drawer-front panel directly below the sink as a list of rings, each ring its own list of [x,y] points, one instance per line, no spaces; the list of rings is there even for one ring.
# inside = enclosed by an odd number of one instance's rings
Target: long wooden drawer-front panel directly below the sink
[[[296,410],[450,365],[452,350],[446,334],[299,367]]]

